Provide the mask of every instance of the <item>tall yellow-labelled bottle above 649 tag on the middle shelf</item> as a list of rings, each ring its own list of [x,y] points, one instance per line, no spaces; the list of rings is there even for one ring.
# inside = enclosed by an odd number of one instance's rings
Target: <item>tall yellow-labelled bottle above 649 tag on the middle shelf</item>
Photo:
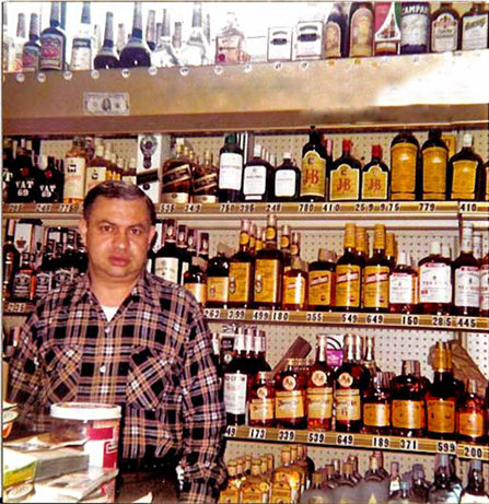
[[[363,307],[366,312],[388,312],[391,265],[385,258],[385,226],[375,224],[373,255],[364,269]]]

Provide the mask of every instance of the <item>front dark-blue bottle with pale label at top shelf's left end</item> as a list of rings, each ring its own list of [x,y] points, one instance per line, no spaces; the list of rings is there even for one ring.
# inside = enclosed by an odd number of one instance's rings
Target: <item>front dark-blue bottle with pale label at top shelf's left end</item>
[[[67,36],[61,27],[61,2],[51,2],[49,26],[40,34],[39,70],[65,70]]]

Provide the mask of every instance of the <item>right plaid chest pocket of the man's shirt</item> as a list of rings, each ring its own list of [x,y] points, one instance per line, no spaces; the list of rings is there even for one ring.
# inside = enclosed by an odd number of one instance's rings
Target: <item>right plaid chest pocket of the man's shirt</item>
[[[136,348],[129,360],[127,405],[136,409],[161,409],[174,377],[172,362],[164,354],[149,347]]]

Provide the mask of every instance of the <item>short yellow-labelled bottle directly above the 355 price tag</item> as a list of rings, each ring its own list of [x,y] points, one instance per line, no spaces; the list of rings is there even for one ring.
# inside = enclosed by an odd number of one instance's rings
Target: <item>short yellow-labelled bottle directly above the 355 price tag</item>
[[[330,312],[335,306],[336,265],[334,253],[319,248],[317,261],[308,267],[308,309]]]

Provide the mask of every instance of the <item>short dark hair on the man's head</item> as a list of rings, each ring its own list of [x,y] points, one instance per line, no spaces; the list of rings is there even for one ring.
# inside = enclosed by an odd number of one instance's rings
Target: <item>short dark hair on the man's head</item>
[[[106,180],[92,187],[83,200],[83,219],[88,221],[92,211],[93,204],[98,197],[108,199],[123,199],[125,201],[133,201],[140,199],[144,201],[148,208],[148,214],[152,225],[156,223],[156,211],[151,199],[135,184],[123,180]]]

